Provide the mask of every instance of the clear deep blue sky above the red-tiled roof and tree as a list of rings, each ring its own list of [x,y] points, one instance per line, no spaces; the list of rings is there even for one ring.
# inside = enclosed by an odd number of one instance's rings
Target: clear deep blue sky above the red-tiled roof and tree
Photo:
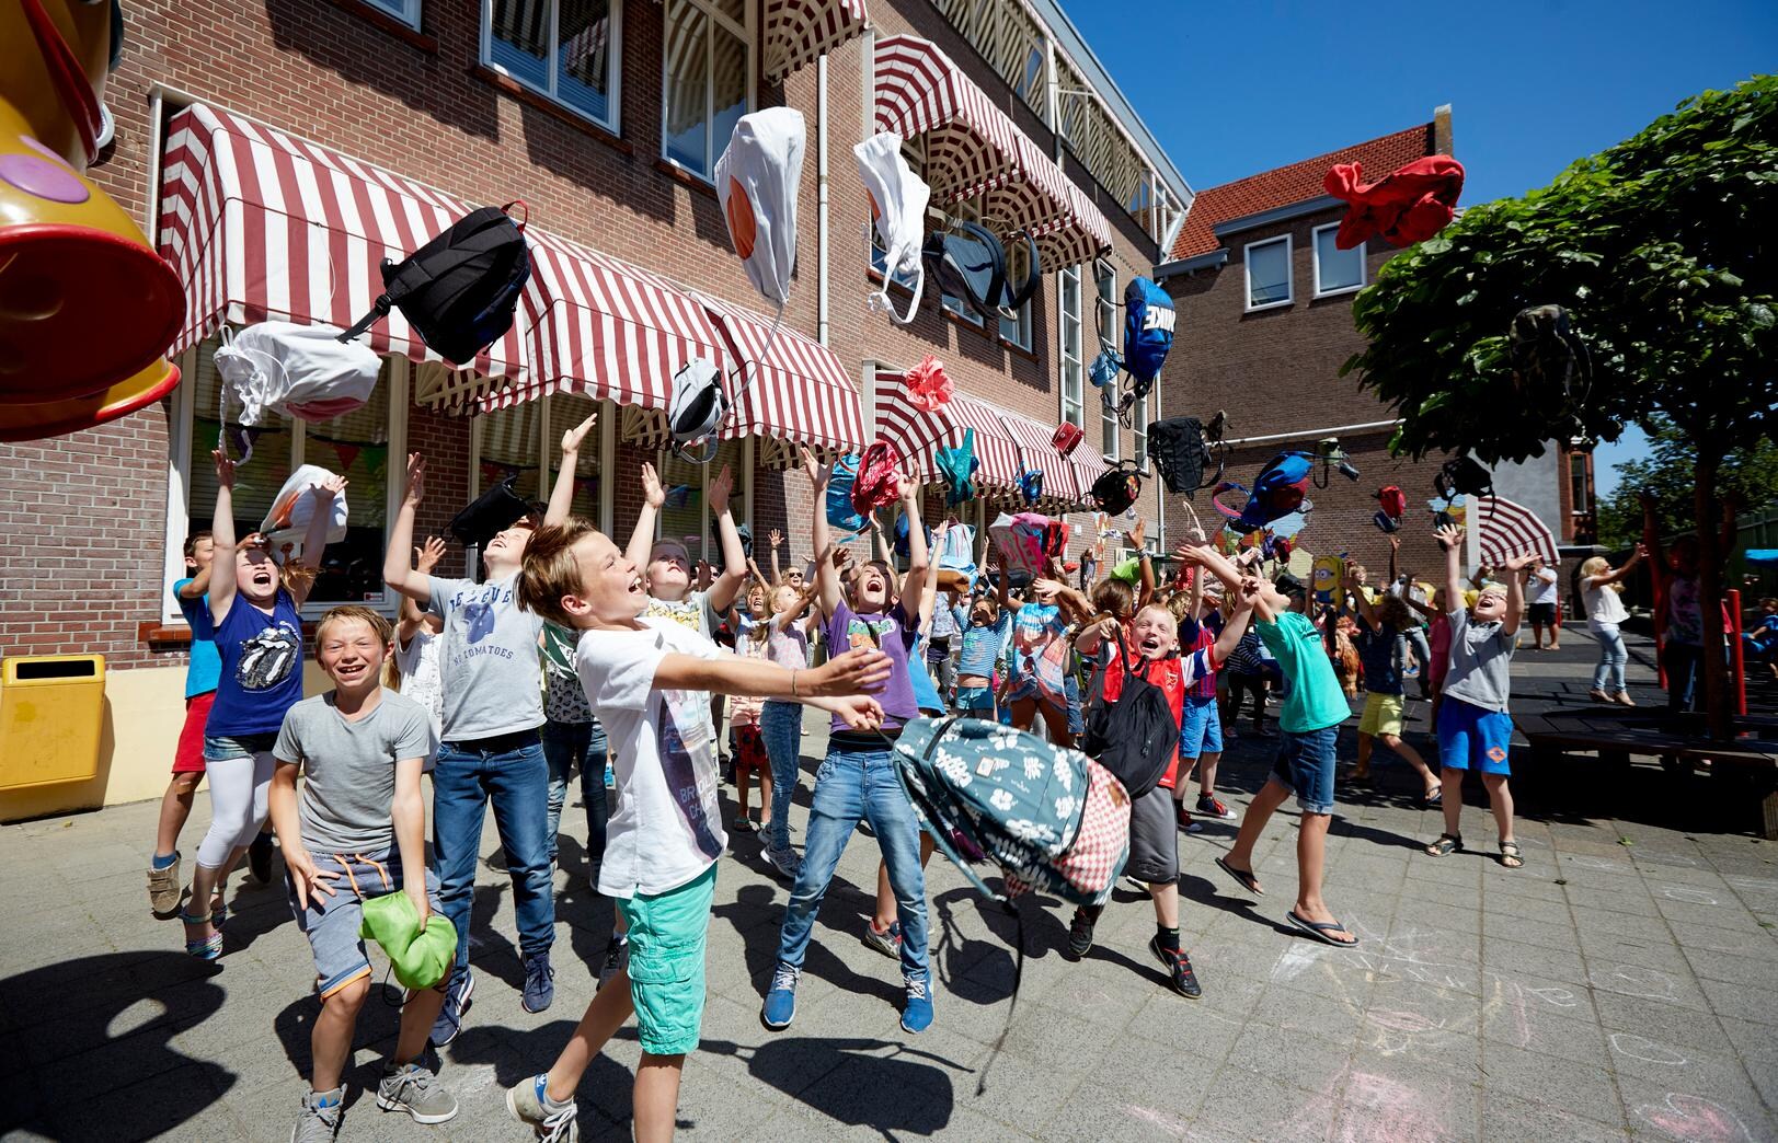
[[[1061,4],[1197,190],[1449,103],[1463,203],[1485,203],[1549,183],[1689,94],[1778,68],[1774,0]],[[1639,452],[1639,432],[1600,446],[1600,494]]]

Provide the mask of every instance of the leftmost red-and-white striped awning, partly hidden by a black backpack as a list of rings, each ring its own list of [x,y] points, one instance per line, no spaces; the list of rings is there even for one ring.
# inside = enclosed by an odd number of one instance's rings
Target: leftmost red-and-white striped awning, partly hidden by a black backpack
[[[466,215],[462,201],[203,103],[172,117],[160,174],[156,245],[185,283],[180,352],[270,318],[345,329],[382,293],[379,267],[400,261]],[[368,345],[437,361],[400,311]],[[471,363],[461,363],[471,364]],[[477,354],[484,377],[521,377],[517,324]]]

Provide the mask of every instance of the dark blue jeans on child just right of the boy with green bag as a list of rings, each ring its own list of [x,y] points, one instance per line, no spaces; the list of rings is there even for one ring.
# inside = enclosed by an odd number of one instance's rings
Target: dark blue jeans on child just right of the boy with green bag
[[[549,763],[535,731],[444,743],[432,770],[432,855],[439,901],[457,926],[457,969],[469,967],[469,905],[482,818],[494,803],[494,827],[512,876],[519,951],[555,942],[555,887],[549,882]]]

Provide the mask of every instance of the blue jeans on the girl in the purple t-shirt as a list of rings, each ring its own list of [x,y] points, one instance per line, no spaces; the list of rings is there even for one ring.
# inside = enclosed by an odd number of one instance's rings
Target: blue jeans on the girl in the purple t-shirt
[[[901,919],[901,974],[925,978],[926,873],[919,867],[919,825],[887,750],[830,748],[814,773],[809,837],[802,850],[802,873],[784,907],[779,960],[802,967],[814,915],[839,867],[839,855],[859,828],[859,818],[877,830],[877,844],[889,866],[889,887]]]

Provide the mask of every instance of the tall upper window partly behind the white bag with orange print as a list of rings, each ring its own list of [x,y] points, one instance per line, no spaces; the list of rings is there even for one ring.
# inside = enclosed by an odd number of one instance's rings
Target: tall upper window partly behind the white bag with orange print
[[[661,155],[669,162],[715,176],[717,156],[752,107],[752,43],[747,0],[667,0]]]

